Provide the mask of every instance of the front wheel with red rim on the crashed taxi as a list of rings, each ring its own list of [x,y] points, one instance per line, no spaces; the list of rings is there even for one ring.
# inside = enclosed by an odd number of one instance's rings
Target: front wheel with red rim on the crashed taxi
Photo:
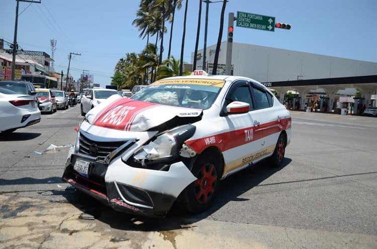
[[[214,201],[220,187],[222,164],[212,153],[203,153],[191,172],[198,179],[187,186],[181,196],[181,204],[190,213],[206,211]]]

